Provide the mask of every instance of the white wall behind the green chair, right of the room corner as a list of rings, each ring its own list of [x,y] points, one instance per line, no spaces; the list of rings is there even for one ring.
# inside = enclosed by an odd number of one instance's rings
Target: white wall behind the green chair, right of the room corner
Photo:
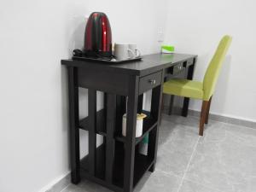
[[[165,42],[198,55],[195,79],[203,79],[220,38],[233,37],[211,113],[256,121],[255,7],[253,0],[169,1]],[[201,102],[189,108],[201,110]]]

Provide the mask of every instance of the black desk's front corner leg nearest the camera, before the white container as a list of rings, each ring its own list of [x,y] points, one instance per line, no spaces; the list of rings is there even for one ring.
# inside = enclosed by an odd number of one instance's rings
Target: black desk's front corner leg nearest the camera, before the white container
[[[125,137],[124,192],[133,191],[138,80],[139,79],[137,76],[131,76],[129,79],[129,93],[128,93],[127,121],[126,121],[127,129],[126,129],[126,137]]]

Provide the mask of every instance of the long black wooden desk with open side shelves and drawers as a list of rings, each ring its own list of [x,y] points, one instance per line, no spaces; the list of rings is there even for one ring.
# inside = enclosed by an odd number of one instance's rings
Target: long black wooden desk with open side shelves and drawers
[[[70,158],[72,182],[80,175],[113,191],[133,191],[147,171],[154,172],[162,84],[188,68],[192,79],[196,55],[144,55],[143,61],[108,65],[89,61],[62,60],[68,69]],[[88,89],[89,116],[79,120],[79,87]],[[96,111],[96,90],[104,92],[104,108]],[[151,110],[143,111],[143,92],[152,90]],[[127,109],[125,108],[126,98]],[[183,115],[189,98],[184,99]],[[122,137],[122,116],[127,110],[127,132]],[[135,137],[137,113],[146,113],[143,136]],[[79,129],[89,131],[89,154],[80,160]],[[96,134],[103,143],[96,148]],[[138,143],[148,135],[148,155],[138,152]]]

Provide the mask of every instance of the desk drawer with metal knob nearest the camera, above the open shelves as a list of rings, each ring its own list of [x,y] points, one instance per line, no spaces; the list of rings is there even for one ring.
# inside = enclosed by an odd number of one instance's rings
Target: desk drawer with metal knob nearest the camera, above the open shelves
[[[154,87],[160,85],[161,80],[162,80],[162,72],[152,73],[143,78],[140,78],[139,94],[142,94],[143,92],[147,90],[151,90]]]

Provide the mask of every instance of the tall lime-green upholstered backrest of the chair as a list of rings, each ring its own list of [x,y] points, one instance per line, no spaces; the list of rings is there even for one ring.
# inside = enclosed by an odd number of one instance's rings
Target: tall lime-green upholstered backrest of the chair
[[[232,38],[228,35],[224,36],[218,44],[218,48],[212,57],[212,61],[207,67],[207,72],[203,81],[204,98],[203,100],[209,101],[212,96],[215,85],[218,80],[218,75],[222,67],[225,55],[230,47]]]

